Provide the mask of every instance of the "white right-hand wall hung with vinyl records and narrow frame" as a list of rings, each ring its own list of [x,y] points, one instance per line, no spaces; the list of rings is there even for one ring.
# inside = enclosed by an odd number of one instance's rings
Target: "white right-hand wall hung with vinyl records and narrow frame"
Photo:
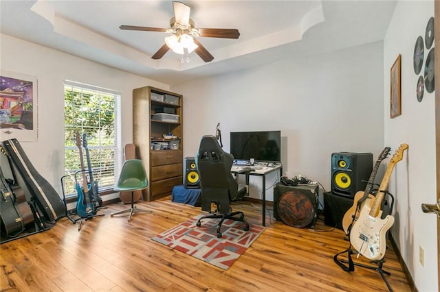
[[[398,162],[389,184],[395,194],[393,238],[399,245],[419,291],[437,291],[437,217],[421,211],[422,203],[436,199],[434,93],[426,90],[417,101],[418,75],[413,54],[418,36],[425,38],[428,19],[434,16],[434,1],[399,1],[384,40],[384,140],[394,149],[409,145]],[[436,27],[438,29],[439,27]],[[401,116],[390,119],[390,68],[401,54]],[[424,56],[428,56],[425,49]],[[421,70],[422,75],[424,71]],[[438,87],[438,85],[437,85]],[[437,89],[438,90],[438,89]],[[439,125],[437,125],[439,126]],[[424,250],[424,267],[419,247]]]

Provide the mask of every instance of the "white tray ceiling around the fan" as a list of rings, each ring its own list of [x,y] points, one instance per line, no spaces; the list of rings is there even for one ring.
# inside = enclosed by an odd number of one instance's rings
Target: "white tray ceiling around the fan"
[[[182,64],[181,56],[173,51],[161,60],[151,59],[168,34],[127,31],[119,26],[168,28],[173,17],[171,0],[0,0],[1,33],[152,80],[177,84],[199,76],[383,40],[396,1],[184,3],[190,6],[196,27],[236,28],[240,38],[199,38],[214,56],[209,63],[191,53],[190,62]]]

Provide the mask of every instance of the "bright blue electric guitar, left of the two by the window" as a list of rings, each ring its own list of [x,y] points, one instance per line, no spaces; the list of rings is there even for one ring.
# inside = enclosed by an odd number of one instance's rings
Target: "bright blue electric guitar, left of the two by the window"
[[[81,188],[78,180],[76,180],[76,193],[78,193],[78,201],[76,202],[76,214],[79,217],[85,218],[96,214],[95,204],[91,202],[91,196],[89,194],[89,184],[87,183],[87,177],[85,175],[84,162],[83,162],[83,148],[81,147],[80,134],[76,132],[76,147],[80,151],[80,165],[81,175],[83,178],[83,187]]]

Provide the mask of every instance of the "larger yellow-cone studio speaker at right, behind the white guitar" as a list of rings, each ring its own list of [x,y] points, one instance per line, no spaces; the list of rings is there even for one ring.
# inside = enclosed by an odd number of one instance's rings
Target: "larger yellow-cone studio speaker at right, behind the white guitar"
[[[331,193],[354,197],[366,188],[373,171],[373,154],[339,152],[331,154]]]

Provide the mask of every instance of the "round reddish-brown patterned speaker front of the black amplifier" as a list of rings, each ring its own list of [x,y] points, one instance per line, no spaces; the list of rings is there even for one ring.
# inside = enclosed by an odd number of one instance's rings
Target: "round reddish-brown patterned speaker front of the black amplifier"
[[[287,191],[278,200],[278,215],[286,225],[303,228],[315,218],[315,207],[307,195]]]

